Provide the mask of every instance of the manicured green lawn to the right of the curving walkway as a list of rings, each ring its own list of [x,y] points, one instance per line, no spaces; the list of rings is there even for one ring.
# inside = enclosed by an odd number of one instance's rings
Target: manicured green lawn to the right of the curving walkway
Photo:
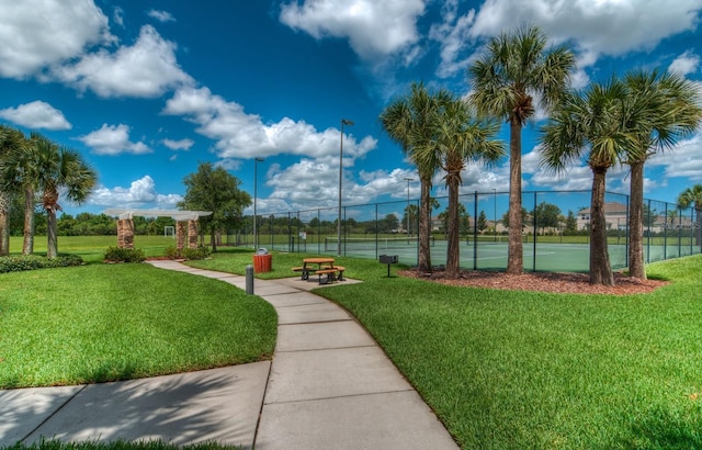
[[[463,448],[702,448],[702,257],[656,293],[566,295],[375,280],[349,308]]]

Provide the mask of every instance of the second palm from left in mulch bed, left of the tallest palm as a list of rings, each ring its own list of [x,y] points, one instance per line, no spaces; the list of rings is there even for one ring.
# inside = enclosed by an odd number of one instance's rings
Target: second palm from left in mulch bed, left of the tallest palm
[[[461,270],[461,223],[458,189],[463,184],[461,172],[467,160],[495,162],[505,155],[502,144],[494,140],[499,124],[475,120],[468,103],[451,98],[437,111],[434,140],[419,148],[419,158],[434,158],[438,154],[444,180],[449,188],[449,221],[446,232],[446,277],[458,278]],[[426,155],[426,154],[432,155]]]

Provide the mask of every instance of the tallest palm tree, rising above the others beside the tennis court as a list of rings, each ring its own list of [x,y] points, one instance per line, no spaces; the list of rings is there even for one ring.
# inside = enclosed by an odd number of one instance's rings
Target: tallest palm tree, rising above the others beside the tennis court
[[[575,67],[565,46],[546,49],[546,35],[536,26],[502,33],[468,68],[472,101],[483,114],[503,119],[510,127],[508,273],[523,271],[522,140],[524,124],[534,115],[534,98],[546,109],[558,100]]]

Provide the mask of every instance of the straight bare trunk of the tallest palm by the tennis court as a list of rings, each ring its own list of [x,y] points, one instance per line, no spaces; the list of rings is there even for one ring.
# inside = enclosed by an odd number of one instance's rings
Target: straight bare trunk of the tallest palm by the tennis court
[[[507,273],[519,274],[523,271],[522,124],[517,117],[512,117],[509,130],[509,247]]]

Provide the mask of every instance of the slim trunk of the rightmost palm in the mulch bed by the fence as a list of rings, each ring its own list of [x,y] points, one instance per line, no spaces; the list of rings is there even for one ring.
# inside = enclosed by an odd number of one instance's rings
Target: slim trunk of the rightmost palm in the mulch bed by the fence
[[[629,273],[646,279],[644,265],[644,162],[633,162],[629,200]]]

